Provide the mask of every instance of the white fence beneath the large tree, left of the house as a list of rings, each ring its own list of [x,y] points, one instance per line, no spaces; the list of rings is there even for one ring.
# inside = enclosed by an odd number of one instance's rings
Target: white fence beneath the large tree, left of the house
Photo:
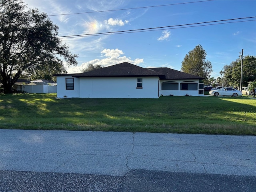
[[[57,86],[51,85],[14,85],[13,89],[25,93],[57,93]]]

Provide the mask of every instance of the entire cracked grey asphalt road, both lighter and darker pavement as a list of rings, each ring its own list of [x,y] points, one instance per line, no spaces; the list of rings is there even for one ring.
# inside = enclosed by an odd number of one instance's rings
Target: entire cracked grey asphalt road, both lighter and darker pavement
[[[255,192],[256,137],[0,130],[0,191]]]

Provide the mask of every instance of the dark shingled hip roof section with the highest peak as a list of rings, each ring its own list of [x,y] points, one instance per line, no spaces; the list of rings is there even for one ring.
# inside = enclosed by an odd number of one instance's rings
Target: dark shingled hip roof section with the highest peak
[[[109,67],[92,70],[72,77],[134,77],[134,76],[158,76],[164,78],[164,75],[149,68],[143,68],[130,64],[128,62],[112,65]]]

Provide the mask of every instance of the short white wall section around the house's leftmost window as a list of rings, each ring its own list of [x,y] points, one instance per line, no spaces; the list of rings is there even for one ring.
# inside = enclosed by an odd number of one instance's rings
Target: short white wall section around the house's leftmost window
[[[66,78],[72,78],[72,76],[57,76],[57,97],[58,98],[79,97],[79,94],[80,94],[79,78],[74,78],[74,90],[66,90]]]

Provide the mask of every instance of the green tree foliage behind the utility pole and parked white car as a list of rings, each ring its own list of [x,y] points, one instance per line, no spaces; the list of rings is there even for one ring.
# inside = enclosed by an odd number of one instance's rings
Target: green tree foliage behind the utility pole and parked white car
[[[241,79],[241,60],[231,62],[223,68],[224,78],[228,86],[239,87]],[[245,56],[243,59],[242,86],[248,86],[249,82],[256,80],[256,56]]]

